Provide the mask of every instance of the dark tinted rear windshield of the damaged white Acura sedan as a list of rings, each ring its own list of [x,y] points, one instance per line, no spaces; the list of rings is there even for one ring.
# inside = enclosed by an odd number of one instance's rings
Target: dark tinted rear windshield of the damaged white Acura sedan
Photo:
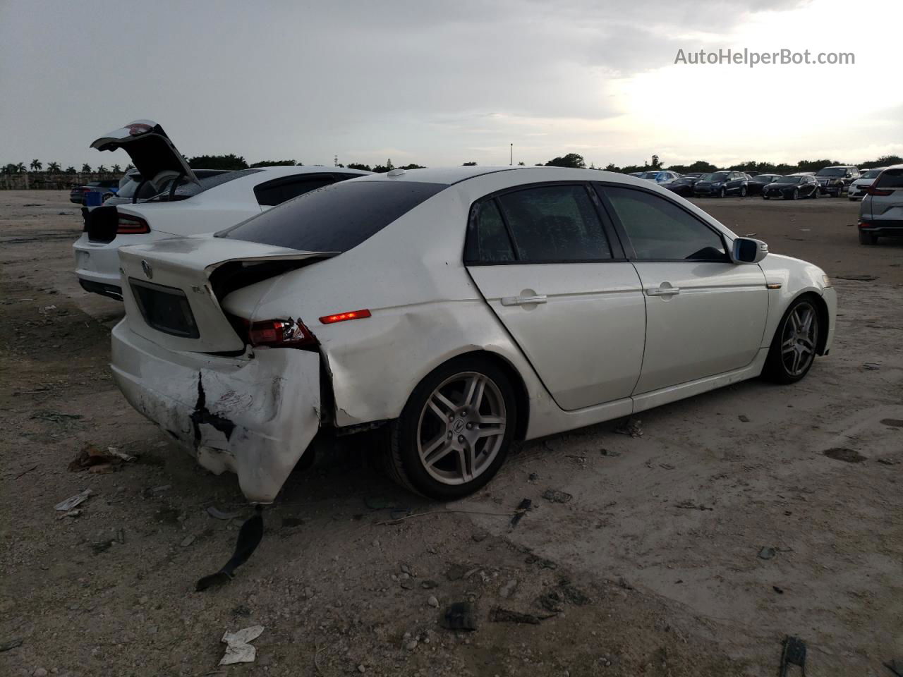
[[[442,183],[341,181],[217,233],[303,252],[347,252],[414,209]]]

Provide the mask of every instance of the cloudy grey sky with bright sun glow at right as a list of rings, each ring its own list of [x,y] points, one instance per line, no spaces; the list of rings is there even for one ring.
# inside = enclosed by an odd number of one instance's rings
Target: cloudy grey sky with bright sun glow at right
[[[899,0],[0,0],[0,163],[125,164],[88,144],[142,117],[248,162],[860,162],[903,155],[901,25]],[[856,63],[674,64],[722,47]]]

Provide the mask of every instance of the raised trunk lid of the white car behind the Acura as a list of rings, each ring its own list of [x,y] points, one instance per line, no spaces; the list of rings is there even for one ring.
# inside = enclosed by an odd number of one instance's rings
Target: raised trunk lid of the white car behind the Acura
[[[98,151],[115,151],[122,148],[132,158],[135,170],[142,178],[154,184],[156,190],[170,179],[184,176],[186,180],[198,182],[191,172],[188,162],[172,145],[163,127],[153,120],[135,120],[128,125],[101,136],[91,148]]]

